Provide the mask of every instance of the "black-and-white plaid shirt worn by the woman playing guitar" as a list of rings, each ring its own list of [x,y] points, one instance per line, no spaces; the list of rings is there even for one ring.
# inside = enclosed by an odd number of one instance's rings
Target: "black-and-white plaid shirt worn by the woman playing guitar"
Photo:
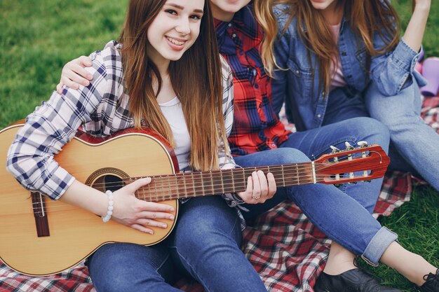
[[[121,55],[115,42],[90,55],[93,81],[79,90],[65,88],[62,95],[53,92],[26,118],[8,153],[8,170],[28,190],[58,199],[73,183],[74,177],[58,165],[53,155],[67,144],[76,130],[105,137],[134,126],[128,111],[128,95],[123,87]],[[227,133],[233,123],[233,90],[229,65],[222,60],[223,112]],[[234,168],[224,144],[218,149],[221,169]],[[229,204],[230,201],[229,201]]]

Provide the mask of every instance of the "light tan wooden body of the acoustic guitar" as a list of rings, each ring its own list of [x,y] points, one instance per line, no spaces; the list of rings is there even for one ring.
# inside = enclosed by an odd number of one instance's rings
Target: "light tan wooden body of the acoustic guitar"
[[[177,220],[167,229],[153,228],[154,235],[139,232],[114,221],[103,223],[100,216],[81,208],[48,199],[45,215],[50,235],[38,236],[32,211],[31,192],[6,171],[6,155],[22,125],[0,132],[0,258],[13,270],[35,276],[55,274],[80,263],[93,251],[110,242],[151,245],[166,238]],[[78,181],[90,186],[104,176],[116,178],[174,174],[178,172],[172,149],[147,132],[124,130],[115,137],[99,140],[77,135],[55,155],[55,160]],[[38,195],[39,196],[39,195]]]

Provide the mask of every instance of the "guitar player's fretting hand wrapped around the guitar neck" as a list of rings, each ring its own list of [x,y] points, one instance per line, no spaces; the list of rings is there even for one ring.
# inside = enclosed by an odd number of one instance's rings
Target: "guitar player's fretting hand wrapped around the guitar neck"
[[[259,204],[271,199],[276,193],[276,181],[269,172],[266,176],[264,172],[258,170],[248,176],[247,188],[244,192],[238,193],[244,202],[248,204]]]

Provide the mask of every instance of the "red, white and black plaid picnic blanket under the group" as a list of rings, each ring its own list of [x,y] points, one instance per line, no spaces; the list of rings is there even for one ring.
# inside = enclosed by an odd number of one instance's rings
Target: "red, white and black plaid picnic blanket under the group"
[[[421,116],[439,133],[439,96],[424,99]],[[388,216],[410,200],[414,183],[419,182],[408,173],[387,172],[374,216]],[[249,222],[241,247],[269,291],[312,292],[329,246],[330,239],[294,203],[285,201]],[[175,286],[187,292],[204,291],[189,279],[180,279]],[[49,277],[29,277],[0,262],[0,291],[95,292],[95,288],[83,264]]]

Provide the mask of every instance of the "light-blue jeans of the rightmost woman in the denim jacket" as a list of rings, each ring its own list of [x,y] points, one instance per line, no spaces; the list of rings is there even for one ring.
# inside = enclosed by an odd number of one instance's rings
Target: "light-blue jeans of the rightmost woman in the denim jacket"
[[[420,116],[421,93],[416,81],[391,97],[382,95],[372,83],[365,94],[365,104],[372,118],[389,127],[391,142],[400,157],[439,190],[439,134]],[[399,165],[401,170],[410,171],[403,162]]]

